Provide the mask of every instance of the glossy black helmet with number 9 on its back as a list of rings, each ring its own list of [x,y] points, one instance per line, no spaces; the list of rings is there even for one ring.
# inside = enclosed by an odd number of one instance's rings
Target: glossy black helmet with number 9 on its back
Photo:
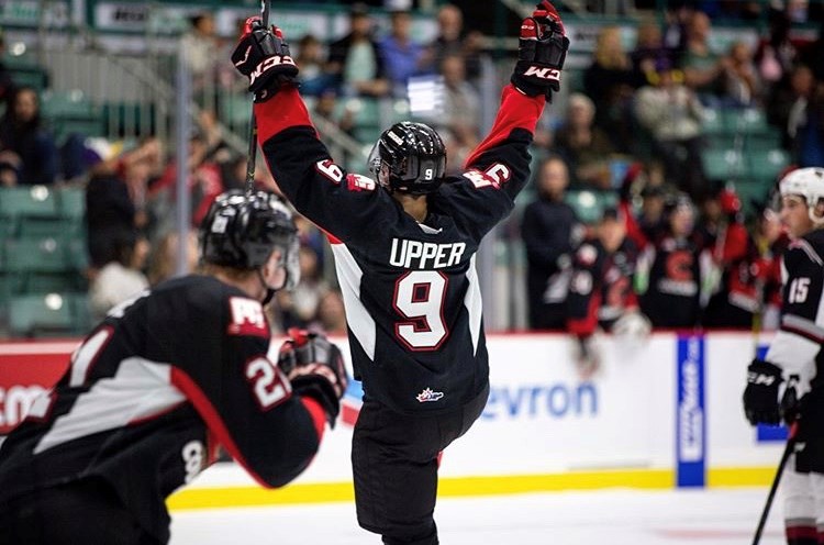
[[[401,121],[390,126],[369,154],[369,171],[389,191],[426,194],[446,170],[446,147],[428,125]]]

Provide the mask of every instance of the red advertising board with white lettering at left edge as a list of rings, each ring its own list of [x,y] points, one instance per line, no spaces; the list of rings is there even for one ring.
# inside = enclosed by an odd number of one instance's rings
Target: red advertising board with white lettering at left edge
[[[54,386],[79,341],[0,343],[0,435],[8,434],[32,401]]]

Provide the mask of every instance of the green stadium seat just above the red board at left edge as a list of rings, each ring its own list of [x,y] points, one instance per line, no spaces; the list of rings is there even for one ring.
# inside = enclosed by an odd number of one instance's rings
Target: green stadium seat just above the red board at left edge
[[[76,332],[75,298],[62,293],[15,296],[9,301],[12,336],[68,335]]]

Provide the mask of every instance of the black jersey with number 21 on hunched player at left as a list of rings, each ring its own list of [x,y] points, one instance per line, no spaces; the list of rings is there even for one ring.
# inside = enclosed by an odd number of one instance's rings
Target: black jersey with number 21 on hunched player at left
[[[261,485],[288,482],[315,454],[324,415],[292,396],[268,347],[260,302],[213,277],[122,303],[2,444],[0,500],[102,477],[166,542],[165,498],[219,445]]]

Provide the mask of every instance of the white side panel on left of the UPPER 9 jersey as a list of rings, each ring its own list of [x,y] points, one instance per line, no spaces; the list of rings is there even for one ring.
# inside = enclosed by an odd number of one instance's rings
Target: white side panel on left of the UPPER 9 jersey
[[[335,269],[341,285],[341,293],[344,298],[346,323],[366,355],[374,362],[375,338],[377,336],[375,320],[369,315],[364,303],[360,302],[360,279],[364,277],[364,271],[360,270],[355,257],[345,244],[332,244],[331,246],[335,256]]]

